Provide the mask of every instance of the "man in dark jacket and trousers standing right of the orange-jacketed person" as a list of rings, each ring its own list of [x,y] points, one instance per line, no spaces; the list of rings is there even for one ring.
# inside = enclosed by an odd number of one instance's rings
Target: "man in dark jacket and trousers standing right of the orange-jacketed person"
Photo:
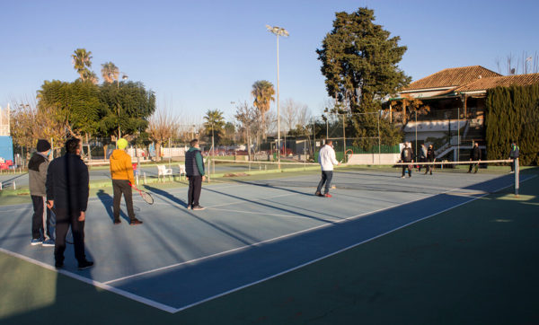
[[[204,159],[200,152],[198,139],[190,141],[190,148],[185,153],[185,174],[189,180],[187,208],[204,210],[204,207],[199,204],[199,199],[202,191],[202,181],[206,180],[206,176],[204,175]]]

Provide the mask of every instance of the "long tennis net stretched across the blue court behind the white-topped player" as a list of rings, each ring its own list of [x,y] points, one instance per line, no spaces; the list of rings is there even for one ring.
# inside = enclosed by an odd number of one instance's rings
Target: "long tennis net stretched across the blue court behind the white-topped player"
[[[511,160],[476,162],[341,164],[333,171],[333,189],[439,194],[484,194],[519,187],[519,168]],[[404,167],[404,168],[403,168]],[[410,167],[410,169],[409,169]],[[404,171],[402,171],[404,169]],[[211,160],[210,176],[276,188],[316,188],[318,163],[238,162]],[[402,175],[405,179],[402,180]],[[411,177],[413,176],[413,177]]]

